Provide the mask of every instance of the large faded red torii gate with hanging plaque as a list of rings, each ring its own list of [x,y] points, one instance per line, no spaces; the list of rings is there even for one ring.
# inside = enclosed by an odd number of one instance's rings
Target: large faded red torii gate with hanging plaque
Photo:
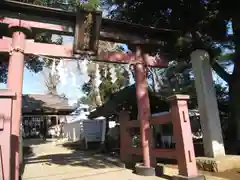
[[[147,91],[146,66],[166,68],[168,61],[164,56],[153,57],[144,53],[144,46],[160,46],[164,38],[168,39],[169,35],[174,36],[177,31],[156,29],[144,27],[141,25],[130,24],[121,21],[101,19],[101,13],[93,13],[94,23],[92,24],[91,37],[88,39],[88,48],[83,49],[84,42],[83,14],[66,12],[60,9],[46,8],[42,6],[29,5],[26,3],[1,1],[0,3],[0,53],[9,54],[8,80],[7,87],[14,93],[1,93],[1,97],[12,97],[12,116],[11,129],[1,129],[5,134],[0,133],[0,153],[4,154],[3,171],[6,180],[17,180],[19,176],[19,130],[21,121],[22,105],[22,82],[24,71],[24,55],[41,55],[64,59],[76,59],[79,55],[87,54],[95,56],[96,61],[112,63],[131,63],[134,64],[136,73],[136,95],[141,122],[140,131],[143,148],[144,166],[150,167],[149,156],[149,117],[150,107]],[[86,14],[85,14],[86,15]],[[48,31],[54,34],[63,34],[75,36],[74,46],[72,45],[55,45],[34,42],[34,34],[41,31]],[[4,32],[11,32],[11,38],[7,37]],[[108,40],[122,42],[139,47],[135,53],[117,53],[97,51],[98,40]],[[86,43],[86,42],[84,42]],[[1,103],[0,103],[1,105]],[[1,106],[2,107],[2,106]],[[9,107],[6,107],[9,108]],[[3,119],[0,119],[0,125]],[[10,125],[10,123],[9,123]],[[9,135],[6,138],[6,135]],[[11,137],[10,137],[11,134]],[[4,137],[3,137],[4,135]],[[11,140],[10,140],[11,138]],[[4,140],[3,140],[4,139]],[[11,154],[10,152],[11,142]],[[11,158],[11,168],[8,159]],[[1,171],[0,171],[1,172]],[[10,177],[11,174],[11,177]]]

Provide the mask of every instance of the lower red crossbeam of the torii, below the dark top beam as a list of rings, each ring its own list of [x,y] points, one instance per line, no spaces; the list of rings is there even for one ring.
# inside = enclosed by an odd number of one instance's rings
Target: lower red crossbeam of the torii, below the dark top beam
[[[11,38],[4,37],[3,39],[0,39],[0,52],[8,53],[11,43]],[[29,55],[48,56],[53,58],[80,59],[80,57],[73,55],[72,45],[35,43],[32,40],[27,40],[24,52],[25,54]],[[93,60],[99,62],[123,64],[136,63],[134,53],[101,52],[97,55],[97,57],[94,57]],[[168,62],[165,59],[149,56],[146,65],[151,67],[166,68],[168,66]]]

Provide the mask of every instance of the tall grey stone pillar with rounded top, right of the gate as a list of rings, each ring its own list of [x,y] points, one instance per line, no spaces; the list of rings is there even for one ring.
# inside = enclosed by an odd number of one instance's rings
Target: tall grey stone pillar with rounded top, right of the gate
[[[191,63],[195,75],[205,156],[223,156],[225,149],[208,53],[204,50],[192,52]]]

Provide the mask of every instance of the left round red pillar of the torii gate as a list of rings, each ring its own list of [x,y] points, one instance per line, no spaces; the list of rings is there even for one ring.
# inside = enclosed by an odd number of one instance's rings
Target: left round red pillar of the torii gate
[[[11,179],[18,180],[19,165],[21,155],[20,146],[20,123],[22,114],[22,83],[24,71],[24,50],[26,43],[26,32],[29,28],[23,23],[9,26],[12,32],[12,47],[9,52],[8,65],[8,89],[16,92],[12,107],[12,127],[11,127]]]

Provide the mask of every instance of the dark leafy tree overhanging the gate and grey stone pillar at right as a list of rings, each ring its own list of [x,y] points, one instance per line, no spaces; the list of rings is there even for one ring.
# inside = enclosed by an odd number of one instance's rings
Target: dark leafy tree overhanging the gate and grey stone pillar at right
[[[234,122],[233,127],[237,127],[236,124],[240,122],[240,96],[238,95],[240,91],[238,80],[240,76],[240,12],[237,11],[239,1],[163,0],[153,3],[145,0],[106,0],[105,3],[115,6],[110,12],[114,19],[180,30],[182,33],[177,43],[168,43],[169,46],[163,49],[170,52],[172,60],[187,62],[186,67],[188,67],[189,54],[192,50],[196,48],[208,50],[214,71],[229,85],[231,122]],[[229,21],[233,26],[232,36],[227,35]],[[169,37],[169,41],[170,39]],[[229,74],[219,61],[222,59],[222,52],[226,49],[234,50],[233,58],[225,59],[225,62],[228,62],[225,64],[230,62],[234,65],[232,74]],[[232,138],[237,137],[236,132],[232,134]]]

